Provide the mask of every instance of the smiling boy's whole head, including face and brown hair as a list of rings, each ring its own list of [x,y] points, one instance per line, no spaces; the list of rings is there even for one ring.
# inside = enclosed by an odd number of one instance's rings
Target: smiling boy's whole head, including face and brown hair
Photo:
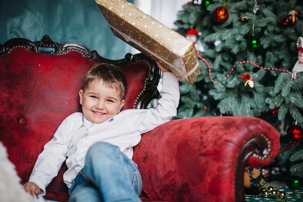
[[[83,90],[79,92],[83,114],[95,124],[101,124],[117,115],[125,104],[124,75],[113,65],[107,64],[107,66],[108,69],[92,68],[86,75]],[[106,71],[115,77],[104,78],[107,75]]]

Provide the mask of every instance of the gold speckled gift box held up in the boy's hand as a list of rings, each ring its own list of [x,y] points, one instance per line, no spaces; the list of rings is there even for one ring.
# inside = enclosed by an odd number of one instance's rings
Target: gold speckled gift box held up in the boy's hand
[[[200,74],[193,42],[126,0],[95,0],[115,36],[193,84]]]

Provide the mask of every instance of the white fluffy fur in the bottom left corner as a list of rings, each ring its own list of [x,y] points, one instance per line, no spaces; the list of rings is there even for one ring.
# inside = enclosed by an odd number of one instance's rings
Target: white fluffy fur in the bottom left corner
[[[1,202],[45,202],[43,198],[31,196],[20,184],[14,164],[7,158],[6,148],[0,142],[0,201]]]

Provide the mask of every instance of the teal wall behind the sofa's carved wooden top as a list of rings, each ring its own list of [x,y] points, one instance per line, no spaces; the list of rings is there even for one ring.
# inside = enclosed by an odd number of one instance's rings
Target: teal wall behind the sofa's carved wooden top
[[[0,0],[0,44],[15,37],[39,41],[45,34],[58,43],[83,43],[112,60],[131,51],[110,31],[94,0]]]

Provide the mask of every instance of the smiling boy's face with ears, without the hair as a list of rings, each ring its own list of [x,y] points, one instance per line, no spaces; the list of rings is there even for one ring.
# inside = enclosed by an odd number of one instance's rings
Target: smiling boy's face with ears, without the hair
[[[98,79],[91,81],[85,90],[80,90],[79,96],[84,116],[94,124],[101,124],[117,115],[125,103],[119,91]]]

